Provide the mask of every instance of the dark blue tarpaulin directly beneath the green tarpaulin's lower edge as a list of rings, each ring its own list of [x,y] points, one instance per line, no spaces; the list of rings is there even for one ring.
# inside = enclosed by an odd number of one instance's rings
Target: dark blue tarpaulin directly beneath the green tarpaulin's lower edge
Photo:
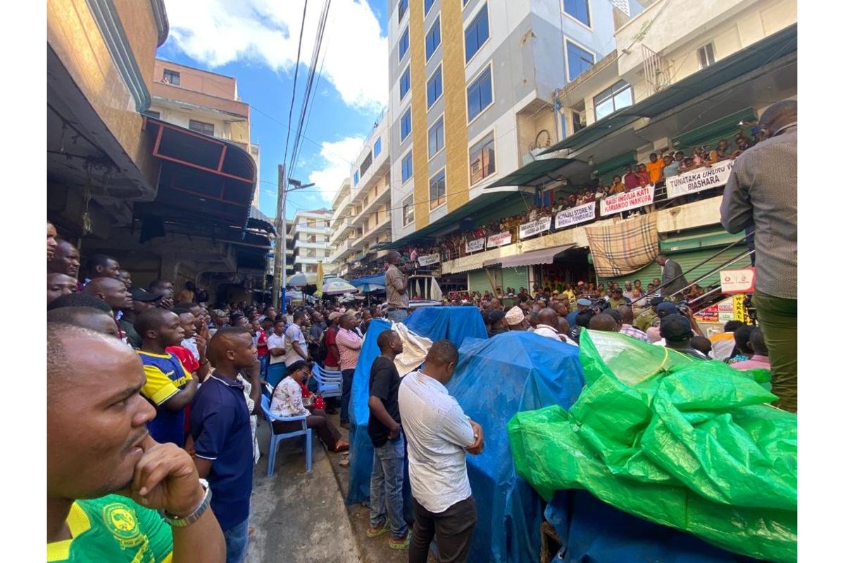
[[[642,520],[599,501],[586,490],[559,490],[546,519],[563,544],[555,563],[749,563],[690,533]]]

